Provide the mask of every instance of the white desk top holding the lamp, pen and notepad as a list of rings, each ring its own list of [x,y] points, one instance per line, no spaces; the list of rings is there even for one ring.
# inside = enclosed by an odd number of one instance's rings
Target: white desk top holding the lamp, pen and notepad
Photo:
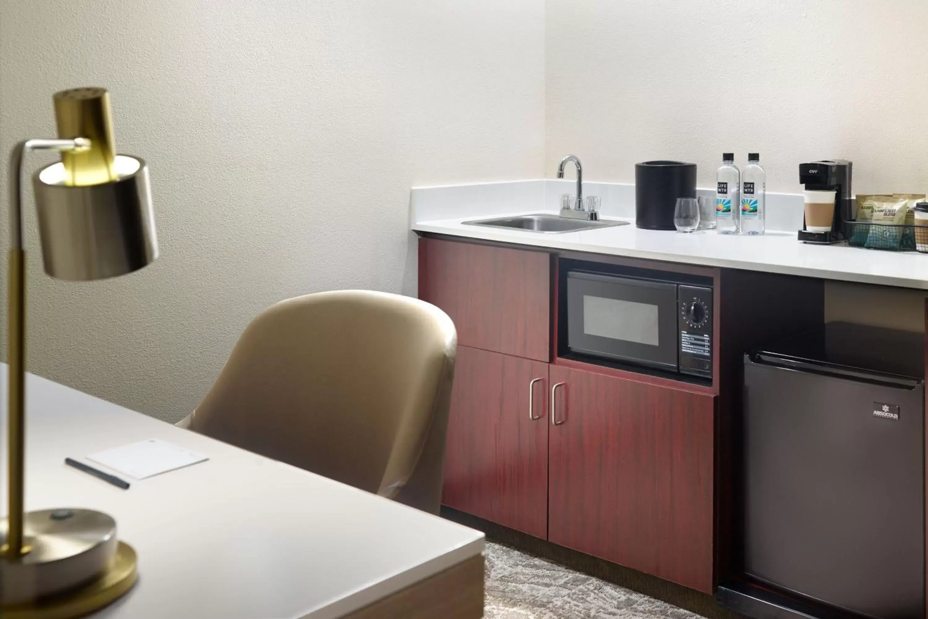
[[[138,553],[135,588],[95,617],[341,617],[483,552],[480,532],[50,380],[26,397],[27,509],[104,511]],[[210,460],[129,490],[64,464],[147,438]]]

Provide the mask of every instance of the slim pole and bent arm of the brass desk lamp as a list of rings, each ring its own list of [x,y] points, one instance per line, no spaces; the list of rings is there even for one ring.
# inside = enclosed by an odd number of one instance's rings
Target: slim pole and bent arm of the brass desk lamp
[[[9,155],[9,292],[6,319],[8,329],[9,375],[9,454],[7,472],[6,544],[3,550],[10,560],[29,551],[24,545],[22,522],[25,513],[25,452],[26,452],[26,254],[22,249],[22,166],[30,150],[86,150],[90,140],[31,139],[19,142]]]

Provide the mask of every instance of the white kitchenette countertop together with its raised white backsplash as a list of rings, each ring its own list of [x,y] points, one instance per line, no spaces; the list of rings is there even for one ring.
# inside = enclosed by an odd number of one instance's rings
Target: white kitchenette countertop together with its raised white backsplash
[[[602,196],[603,219],[630,222],[566,234],[542,234],[462,222],[527,213],[557,213],[566,181],[529,180],[466,186],[416,187],[410,196],[410,226],[419,232],[493,240],[552,250],[588,251],[683,264],[822,277],[884,286],[928,290],[928,253],[867,250],[846,245],[809,245],[795,232],[768,231],[761,237],[719,235],[715,231],[681,234],[635,227],[634,186],[584,183],[588,195]],[[700,190],[702,193],[702,190]],[[802,225],[802,196],[767,194],[768,228]],[[623,216],[625,215],[625,216]],[[796,219],[798,216],[798,220]]]

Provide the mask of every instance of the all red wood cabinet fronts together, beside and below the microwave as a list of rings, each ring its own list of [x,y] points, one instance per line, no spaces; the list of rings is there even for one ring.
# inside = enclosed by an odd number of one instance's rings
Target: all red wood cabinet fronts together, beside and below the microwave
[[[442,502],[711,593],[715,395],[549,366],[552,264],[419,239],[419,298],[458,329]]]

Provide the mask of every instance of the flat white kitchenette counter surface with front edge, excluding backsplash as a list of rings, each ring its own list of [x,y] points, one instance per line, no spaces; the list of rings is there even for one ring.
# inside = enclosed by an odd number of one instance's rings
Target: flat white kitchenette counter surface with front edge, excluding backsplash
[[[536,209],[517,213],[501,212],[496,216],[543,212]],[[481,218],[486,216],[495,215],[482,215]],[[866,250],[846,245],[809,245],[796,240],[795,232],[771,231],[761,237],[720,235],[714,230],[680,234],[676,231],[642,230],[635,226],[633,219],[625,219],[630,222],[629,226],[543,234],[462,223],[472,219],[474,217],[469,215],[421,221],[414,223],[412,228],[417,232],[556,250],[587,251],[928,290],[928,255],[913,251]]]

